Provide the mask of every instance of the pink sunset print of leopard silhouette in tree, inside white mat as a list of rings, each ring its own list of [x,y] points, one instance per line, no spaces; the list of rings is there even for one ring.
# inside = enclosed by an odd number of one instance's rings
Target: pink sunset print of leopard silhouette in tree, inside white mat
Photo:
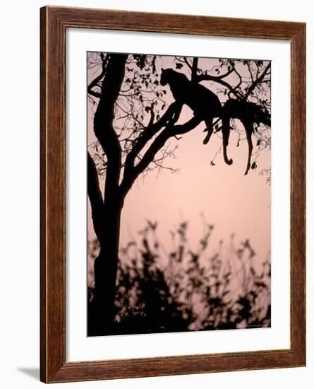
[[[87,337],[271,327],[270,59],[87,52],[86,77]]]

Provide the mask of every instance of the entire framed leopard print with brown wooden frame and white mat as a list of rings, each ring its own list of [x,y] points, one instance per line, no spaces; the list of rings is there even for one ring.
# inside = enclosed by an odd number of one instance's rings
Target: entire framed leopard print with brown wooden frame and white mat
[[[41,381],[306,364],[306,25],[41,8]]]

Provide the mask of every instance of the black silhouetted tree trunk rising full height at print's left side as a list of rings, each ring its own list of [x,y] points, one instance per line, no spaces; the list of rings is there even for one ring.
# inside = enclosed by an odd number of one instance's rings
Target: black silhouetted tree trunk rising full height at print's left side
[[[97,169],[89,158],[89,191],[94,229],[100,252],[95,260],[95,291],[88,308],[88,335],[106,335],[114,330],[114,299],[119,254],[120,218],[123,205],[119,195],[121,145],[113,127],[114,104],[121,90],[128,54],[110,54],[102,91],[94,116],[94,132],[107,156],[104,202],[99,191]]]

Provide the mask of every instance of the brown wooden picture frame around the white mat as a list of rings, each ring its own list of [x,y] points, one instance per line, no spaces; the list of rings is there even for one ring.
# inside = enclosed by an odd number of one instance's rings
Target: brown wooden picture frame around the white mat
[[[306,24],[46,6],[40,10],[40,379],[44,383],[306,365]],[[66,360],[66,30],[123,30],[290,42],[290,347]],[[85,153],[85,150],[82,151]]]

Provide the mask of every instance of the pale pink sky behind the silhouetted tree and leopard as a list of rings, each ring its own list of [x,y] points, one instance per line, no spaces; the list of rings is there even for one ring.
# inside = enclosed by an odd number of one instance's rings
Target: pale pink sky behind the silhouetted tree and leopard
[[[214,60],[202,59],[202,67],[211,69]],[[159,66],[172,67],[173,57],[163,57]],[[91,77],[95,77],[92,74]],[[213,83],[204,83],[215,91]],[[169,103],[172,95],[169,86],[165,86]],[[95,141],[92,130],[91,105],[88,105],[88,143]],[[183,108],[179,122],[186,122],[191,117],[191,110]],[[241,127],[241,124],[239,124]],[[265,177],[260,176],[262,168],[270,167],[270,150],[260,153],[258,169],[250,170],[244,175],[248,149],[246,141],[241,141],[236,147],[236,134],[231,132],[228,154],[234,163],[227,166],[218,153],[215,166],[210,161],[222,144],[220,133],[203,145],[205,134],[204,122],[193,131],[183,135],[178,141],[171,140],[171,145],[177,144],[176,158],[169,158],[166,166],[178,168],[178,173],[169,170],[157,170],[148,173],[145,178],[139,178],[128,193],[121,216],[121,247],[129,240],[138,240],[137,232],[145,226],[147,219],[158,221],[158,235],[163,245],[170,248],[169,231],[181,221],[188,221],[188,243],[196,248],[203,234],[203,214],[205,221],[215,225],[211,238],[212,251],[215,251],[219,240],[227,244],[232,233],[235,243],[249,239],[257,253],[255,265],[260,263],[270,252],[270,185]],[[253,137],[253,144],[256,143]],[[253,150],[254,152],[254,150]],[[102,190],[104,181],[100,181]],[[90,218],[88,202],[88,239],[95,238]],[[89,261],[90,262],[90,261]],[[90,266],[92,264],[90,263]]]

